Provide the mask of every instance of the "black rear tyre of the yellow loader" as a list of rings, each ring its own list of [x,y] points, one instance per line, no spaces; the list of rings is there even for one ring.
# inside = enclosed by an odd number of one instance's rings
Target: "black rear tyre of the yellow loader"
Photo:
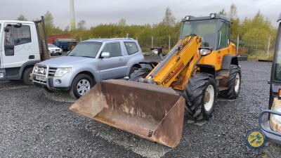
[[[235,86],[237,85],[237,74],[239,74],[239,85],[237,91],[235,90]],[[240,93],[241,87],[241,70],[237,65],[230,65],[230,72],[228,77],[228,89],[226,91],[222,91],[223,96],[228,99],[235,99],[238,97]]]

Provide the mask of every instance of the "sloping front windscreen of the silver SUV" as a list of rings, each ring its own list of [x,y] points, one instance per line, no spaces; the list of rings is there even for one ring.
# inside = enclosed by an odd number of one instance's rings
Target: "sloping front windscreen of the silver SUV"
[[[73,48],[68,56],[81,56],[88,58],[96,58],[98,51],[103,43],[96,41],[84,41]]]

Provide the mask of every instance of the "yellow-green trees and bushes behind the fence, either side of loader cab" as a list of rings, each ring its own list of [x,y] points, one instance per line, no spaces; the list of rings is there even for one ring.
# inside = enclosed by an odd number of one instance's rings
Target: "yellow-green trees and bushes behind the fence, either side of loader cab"
[[[227,15],[226,10],[222,9],[222,15]],[[231,19],[230,39],[236,44],[237,36],[240,37],[240,46],[249,48],[251,56],[266,54],[268,45],[268,37],[270,38],[270,51],[275,46],[275,37],[277,29],[273,27],[270,21],[258,12],[254,18],[237,18],[237,8],[235,4],[230,6],[228,16]],[[25,19],[20,15],[21,19]],[[85,20],[78,22],[78,29],[70,31],[67,26],[65,30],[55,27],[53,24],[53,15],[49,11],[45,14],[46,30],[48,35],[53,34],[71,34],[78,41],[84,41],[90,38],[116,38],[129,37],[138,39],[143,51],[150,51],[152,46],[152,37],[154,39],[153,46],[162,46],[164,52],[169,51],[169,37],[171,38],[171,48],[176,44],[181,31],[181,22],[176,22],[171,9],[166,8],[163,21],[155,25],[127,25],[126,19],[122,18],[117,23],[100,24],[96,27],[86,29]],[[40,27],[41,28],[41,27]]]

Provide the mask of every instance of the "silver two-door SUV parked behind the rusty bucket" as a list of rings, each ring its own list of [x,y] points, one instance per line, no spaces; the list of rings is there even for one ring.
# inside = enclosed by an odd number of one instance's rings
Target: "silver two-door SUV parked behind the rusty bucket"
[[[133,39],[89,39],[67,56],[39,62],[32,81],[47,91],[70,91],[80,98],[97,82],[128,77],[144,60],[138,41]]]

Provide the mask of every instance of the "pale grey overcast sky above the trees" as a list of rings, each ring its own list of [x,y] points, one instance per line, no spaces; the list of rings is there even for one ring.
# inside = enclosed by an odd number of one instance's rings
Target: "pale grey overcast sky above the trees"
[[[74,7],[77,22],[86,20],[86,27],[91,27],[118,22],[121,18],[128,24],[158,23],[167,6],[181,20],[185,15],[209,15],[222,8],[228,12],[232,3],[237,6],[239,18],[251,18],[260,10],[277,26],[281,0],[74,0]],[[34,20],[50,11],[55,25],[65,29],[70,23],[69,6],[69,0],[1,0],[0,20],[15,20],[20,14]]]

